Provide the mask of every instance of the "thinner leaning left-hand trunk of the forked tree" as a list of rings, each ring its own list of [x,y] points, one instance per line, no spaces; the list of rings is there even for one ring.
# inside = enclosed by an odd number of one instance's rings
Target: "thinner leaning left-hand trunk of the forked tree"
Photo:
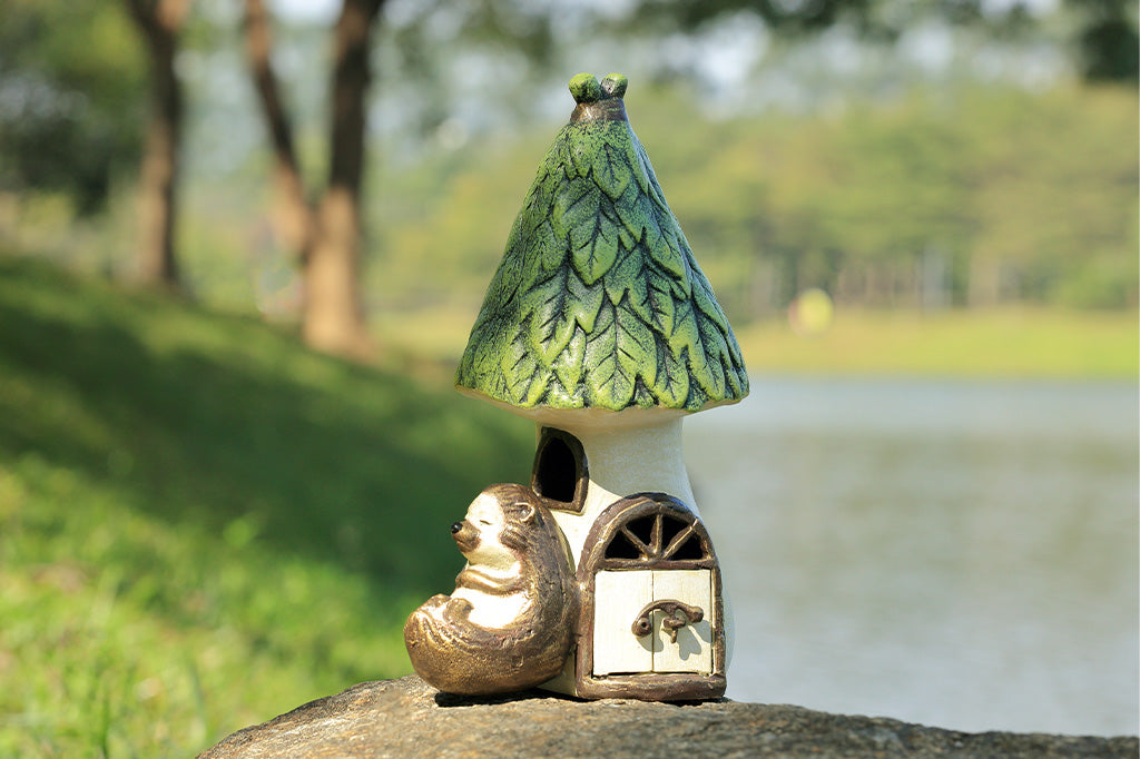
[[[293,147],[293,125],[282,101],[280,87],[270,52],[272,40],[269,14],[262,0],[245,1],[245,49],[253,84],[274,149],[275,210],[272,225],[278,238],[304,267],[316,235],[316,212],[308,202]]]

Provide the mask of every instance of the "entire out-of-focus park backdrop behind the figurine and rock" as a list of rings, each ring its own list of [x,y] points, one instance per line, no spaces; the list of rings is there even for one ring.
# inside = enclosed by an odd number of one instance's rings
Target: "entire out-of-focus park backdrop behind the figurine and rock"
[[[1138,731],[1134,3],[9,0],[0,753],[409,671],[529,478],[450,379],[581,71],[752,373],[686,425],[728,695]]]

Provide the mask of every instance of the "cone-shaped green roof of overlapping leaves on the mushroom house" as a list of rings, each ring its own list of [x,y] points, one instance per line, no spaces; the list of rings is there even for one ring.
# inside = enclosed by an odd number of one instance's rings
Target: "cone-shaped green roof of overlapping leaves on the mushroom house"
[[[578,103],[538,168],[459,362],[527,409],[697,411],[748,394],[740,348],[626,120],[626,77]]]

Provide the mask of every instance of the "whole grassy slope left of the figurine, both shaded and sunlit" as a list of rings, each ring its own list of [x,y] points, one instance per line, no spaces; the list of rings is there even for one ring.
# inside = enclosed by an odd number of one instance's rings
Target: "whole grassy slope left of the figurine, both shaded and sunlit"
[[[415,372],[0,258],[0,756],[193,756],[409,671],[532,441]]]

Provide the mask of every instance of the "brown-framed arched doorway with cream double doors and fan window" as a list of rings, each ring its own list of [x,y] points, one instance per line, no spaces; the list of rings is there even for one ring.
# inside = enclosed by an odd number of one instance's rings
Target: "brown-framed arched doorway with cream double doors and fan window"
[[[705,525],[665,493],[618,500],[578,565],[579,695],[708,699],[725,688],[720,569]]]

